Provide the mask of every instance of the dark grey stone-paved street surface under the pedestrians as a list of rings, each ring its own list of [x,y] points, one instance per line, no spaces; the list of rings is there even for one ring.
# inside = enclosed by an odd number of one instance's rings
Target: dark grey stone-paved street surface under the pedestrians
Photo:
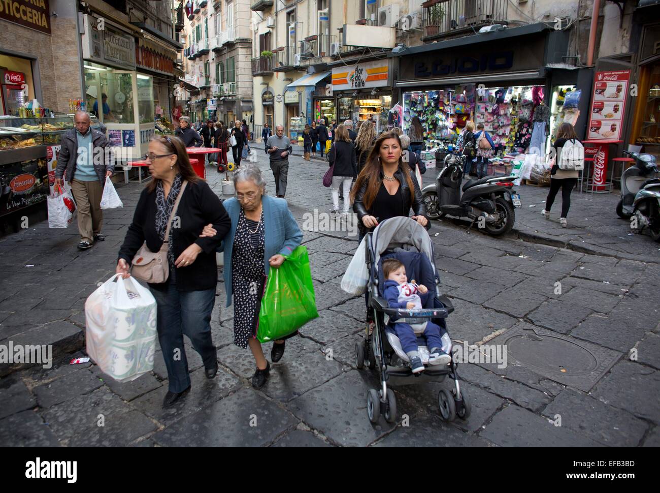
[[[273,194],[265,155],[259,160]],[[301,225],[305,213],[330,209],[325,166],[291,159],[286,198]],[[220,194],[213,170],[209,182]],[[113,274],[141,189],[117,187],[125,207],[106,211],[107,239],[86,252],[75,248],[75,227],[38,223],[0,239],[0,346],[52,344],[55,358],[49,369],[0,363],[0,445],[660,445],[659,245],[628,234],[616,196],[574,194],[562,229],[541,217],[548,189],[521,186],[515,231],[500,239],[467,233],[462,221],[434,221],[455,345],[507,344],[508,365],[459,365],[468,420],[440,420],[445,381],[395,388],[397,423],[372,426],[366,393],[378,375],[355,369],[353,355],[364,301],[339,287],[357,247],[346,231],[305,232],[320,317],[287,343],[259,391],[249,385],[253,358],[232,344],[221,283],[212,320],[218,376],[206,379],[186,340],[192,389],[172,408],[161,407],[168,382],[160,351],[153,373],[130,383],[90,363],[67,364],[84,356],[84,301]]]

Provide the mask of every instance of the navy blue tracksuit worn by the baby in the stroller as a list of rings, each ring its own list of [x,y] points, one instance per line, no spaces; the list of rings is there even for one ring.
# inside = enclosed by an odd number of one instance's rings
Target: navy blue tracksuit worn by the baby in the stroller
[[[426,303],[426,299],[428,298],[428,291],[422,295],[418,293],[417,286],[414,284],[406,283],[399,285],[396,281],[386,280],[383,295],[387,299],[387,304],[390,308],[405,309],[409,301],[413,301],[415,308],[421,309],[422,304]],[[401,342],[401,348],[406,354],[417,350],[415,332],[424,335],[426,347],[429,351],[435,348],[442,349],[440,327],[433,322],[413,325],[394,322],[393,329]]]

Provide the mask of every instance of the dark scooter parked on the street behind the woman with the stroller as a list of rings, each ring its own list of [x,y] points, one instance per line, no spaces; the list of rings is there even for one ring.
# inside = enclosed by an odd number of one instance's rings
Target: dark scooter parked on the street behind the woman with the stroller
[[[469,150],[469,146],[465,147],[463,153],[466,150]],[[463,185],[461,194],[465,160],[465,155],[450,151],[436,182],[422,189],[426,215],[430,219],[440,219],[444,215],[469,217],[472,224],[483,218],[480,225],[483,224],[490,235],[508,233],[515,223],[514,209],[522,207],[519,194],[513,190],[516,177],[485,176],[480,180],[471,179]]]

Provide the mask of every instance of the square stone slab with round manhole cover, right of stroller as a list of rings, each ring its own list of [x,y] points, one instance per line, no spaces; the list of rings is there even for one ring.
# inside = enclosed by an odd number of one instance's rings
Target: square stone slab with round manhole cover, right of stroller
[[[506,344],[508,365],[521,365],[564,385],[588,392],[620,353],[542,328],[519,326],[491,340]]]

